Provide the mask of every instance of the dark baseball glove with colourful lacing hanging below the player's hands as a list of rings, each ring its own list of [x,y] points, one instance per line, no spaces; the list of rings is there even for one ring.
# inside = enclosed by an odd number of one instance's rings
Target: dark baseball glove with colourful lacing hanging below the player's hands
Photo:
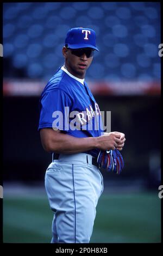
[[[120,174],[124,168],[123,157],[117,149],[99,151],[97,163],[100,169],[104,169],[107,172],[112,171],[117,174]]]

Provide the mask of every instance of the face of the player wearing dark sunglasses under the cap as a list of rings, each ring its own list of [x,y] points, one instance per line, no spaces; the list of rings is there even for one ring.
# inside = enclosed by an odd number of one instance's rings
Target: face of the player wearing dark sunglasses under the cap
[[[62,53],[65,57],[67,70],[74,76],[83,79],[86,70],[91,65],[93,50],[91,48],[70,49],[63,47]]]

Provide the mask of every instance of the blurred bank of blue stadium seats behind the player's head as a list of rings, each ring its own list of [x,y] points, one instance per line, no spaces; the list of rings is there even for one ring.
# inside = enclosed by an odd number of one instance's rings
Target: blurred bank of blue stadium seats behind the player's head
[[[48,80],[64,62],[61,49],[72,27],[97,34],[96,60],[87,80],[147,81],[160,86],[160,4],[154,2],[47,2],[3,4],[4,77]],[[13,69],[14,70],[14,69]]]

